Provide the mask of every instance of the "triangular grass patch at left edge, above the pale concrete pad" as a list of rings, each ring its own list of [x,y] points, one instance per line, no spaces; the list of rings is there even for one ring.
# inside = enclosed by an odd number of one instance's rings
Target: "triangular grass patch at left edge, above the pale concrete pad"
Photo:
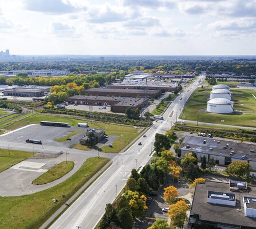
[[[0,149],[0,155],[0,172],[2,172],[5,169],[10,168],[14,164],[23,161],[27,157],[33,156],[33,153],[26,151],[8,151],[8,149]]]

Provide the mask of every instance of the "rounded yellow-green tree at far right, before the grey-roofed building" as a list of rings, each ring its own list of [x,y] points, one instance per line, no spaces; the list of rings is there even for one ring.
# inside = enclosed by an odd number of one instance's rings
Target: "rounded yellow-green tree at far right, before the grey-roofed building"
[[[250,164],[247,161],[233,161],[226,168],[227,173],[234,173],[238,176],[247,176],[251,172]]]

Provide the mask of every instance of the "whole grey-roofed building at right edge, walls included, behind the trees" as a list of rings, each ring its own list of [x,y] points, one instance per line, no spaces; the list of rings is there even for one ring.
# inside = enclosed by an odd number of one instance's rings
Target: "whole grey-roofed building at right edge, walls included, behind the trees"
[[[213,158],[219,165],[229,165],[236,160],[247,161],[256,171],[255,144],[186,136],[180,145],[178,156],[183,157],[186,153],[196,153],[198,161],[202,161],[203,156],[207,161]]]

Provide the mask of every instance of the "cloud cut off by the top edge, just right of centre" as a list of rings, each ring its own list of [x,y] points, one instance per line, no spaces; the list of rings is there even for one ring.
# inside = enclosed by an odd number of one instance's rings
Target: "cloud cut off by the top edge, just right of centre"
[[[147,7],[147,8],[175,7],[174,2],[166,1],[166,0],[123,0],[122,3],[124,6],[129,6],[129,7],[135,7],[135,6]]]

